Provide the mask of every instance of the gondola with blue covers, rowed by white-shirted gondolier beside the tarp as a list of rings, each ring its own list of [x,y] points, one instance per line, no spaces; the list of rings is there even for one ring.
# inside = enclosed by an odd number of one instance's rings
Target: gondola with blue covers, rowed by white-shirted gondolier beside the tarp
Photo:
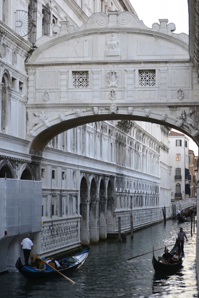
[[[58,268],[58,271],[64,275],[70,273],[78,269],[84,261],[87,259],[90,253],[90,244],[86,250],[83,252],[76,254],[75,256],[64,258],[59,260],[58,262],[61,265],[61,269]],[[48,270],[37,269],[36,267],[27,267],[21,263],[21,253],[19,254],[18,260],[16,261],[16,268],[18,271],[27,279],[43,279],[43,278],[51,278],[51,277],[58,277],[61,274],[55,271],[53,268],[49,268]]]

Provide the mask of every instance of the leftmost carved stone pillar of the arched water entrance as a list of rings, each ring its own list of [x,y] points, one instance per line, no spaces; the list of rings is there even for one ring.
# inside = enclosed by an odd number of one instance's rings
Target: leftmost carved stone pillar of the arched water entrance
[[[90,198],[80,198],[81,243],[90,243]]]

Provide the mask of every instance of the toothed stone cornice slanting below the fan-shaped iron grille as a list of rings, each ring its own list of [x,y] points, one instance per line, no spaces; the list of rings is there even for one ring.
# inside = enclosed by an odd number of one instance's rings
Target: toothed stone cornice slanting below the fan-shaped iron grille
[[[29,52],[32,48],[32,44],[30,44],[28,41],[25,41],[20,35],[10,29],[2,21],[0,21],[0,34],[6,36],[10,41],[17,44],[19,48],[24,49],[25,52]]]

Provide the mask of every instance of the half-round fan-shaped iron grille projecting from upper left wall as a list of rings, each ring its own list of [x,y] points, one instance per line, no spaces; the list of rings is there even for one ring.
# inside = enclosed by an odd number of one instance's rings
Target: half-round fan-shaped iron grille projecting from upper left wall
[[[21,36],[26,36],[33,27],[33,21],[29,13],[24,10],[16,10],[16,32]]]

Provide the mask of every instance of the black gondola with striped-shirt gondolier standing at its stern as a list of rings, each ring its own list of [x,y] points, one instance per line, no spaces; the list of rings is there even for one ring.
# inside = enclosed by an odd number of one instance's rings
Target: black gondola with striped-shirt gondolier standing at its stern
[[[176,239],[176,243],[175,243],[174,247],[172,248],[172,250],[170,251],[170,254],[174,254],[176,252],[177,247],[179,249],[178,238]],[[184,255],[181,256],[181,253],[180,253],[180,257],[181,257],[181,260],[178,262],[175,262],[175,263],[168,263],[167,261],[164,261],[164,260],[156,260],[156,258],[154,256],[154,249],[153,249],[153,258],[152,258],[153,268],[155,271],[161,271],[161,272],[177,271],[178,269],[180,269],[182,267],[182,263],[184,260]]]

